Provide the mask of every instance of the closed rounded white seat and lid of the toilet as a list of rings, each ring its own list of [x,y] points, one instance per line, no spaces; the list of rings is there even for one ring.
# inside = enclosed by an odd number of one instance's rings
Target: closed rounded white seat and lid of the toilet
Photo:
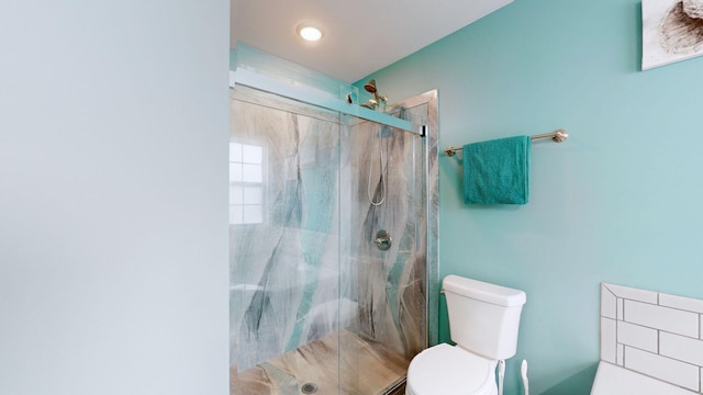
[[[410,362],[406,395],[494,395],[496,363],[447,343],[431,347]]]

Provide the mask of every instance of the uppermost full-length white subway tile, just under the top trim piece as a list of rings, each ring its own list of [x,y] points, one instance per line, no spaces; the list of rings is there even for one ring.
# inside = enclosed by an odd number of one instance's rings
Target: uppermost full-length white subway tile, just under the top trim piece
[[[700,318],[695,313],[625,301],[624,319],[628,323],[678,335],[699,337]]]

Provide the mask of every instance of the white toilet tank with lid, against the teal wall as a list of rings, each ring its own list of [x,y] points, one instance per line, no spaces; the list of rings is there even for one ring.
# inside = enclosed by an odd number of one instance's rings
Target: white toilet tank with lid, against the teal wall
[[[454,274],[444,278],[443,291],[453,341],[494,360],[515,354],[520,315],[527,300],[523,291]]]

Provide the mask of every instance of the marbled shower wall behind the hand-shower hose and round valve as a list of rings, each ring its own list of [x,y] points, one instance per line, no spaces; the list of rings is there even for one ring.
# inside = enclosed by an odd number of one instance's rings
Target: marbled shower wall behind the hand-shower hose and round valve
[[[409,109],[426,112],[426,109]],[[379,129],[380,128],[380,129]],[[380,137],[379,137],[380,134]],[[422,138],[410,133],[364,122],[350,131],[350,163],[358,174],[352,218],[352,259],[358,268],[359,321],[357,332],[383,343],[409,360],[426,343],[426,202],[423,200]],[[380,149],[387,151],[388,180],[380,177]],[[372,205],[368,198],[370,165]],[[386,193],[383,193],[386,188]],[[373,244],[379,230],[388,230],[393,244],[380,250]]]

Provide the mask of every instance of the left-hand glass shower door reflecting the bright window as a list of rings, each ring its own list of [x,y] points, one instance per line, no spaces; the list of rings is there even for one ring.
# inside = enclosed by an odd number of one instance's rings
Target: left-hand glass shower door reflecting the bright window
[[[356,314],[339,297],[339,116],[233,94],[231,392],[336,393],[336,334]]]

